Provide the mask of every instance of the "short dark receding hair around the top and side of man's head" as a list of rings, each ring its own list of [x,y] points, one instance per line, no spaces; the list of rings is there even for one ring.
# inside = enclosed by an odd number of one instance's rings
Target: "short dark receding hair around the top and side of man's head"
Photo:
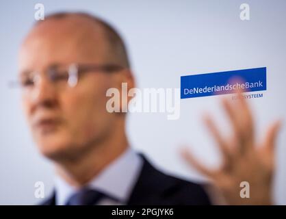
[[[99,25],[103,29],[103,33],[107,39],[107,43],[109,44],[109,49],[111,50],[112,54],[116,55],[116,58],[120,60],[120,64],[126,68],[130,68],[129,58],[127,55],[127,49],[125,46],[124,41],[122,40],[118,31],[112,27],[106,21],[103,21],[101,18],[94,16],[92,14],[88,14],[86,12],[56,12],[53,14],[49,14],[48,16],[44,17],[43,21],[37,21],[36,25],[40,23],[44,23],[44,21],[48,21],[51,19],[62,19],[67,18],[68,16],[83,16],[84,18],[88,18],[96,25]]]

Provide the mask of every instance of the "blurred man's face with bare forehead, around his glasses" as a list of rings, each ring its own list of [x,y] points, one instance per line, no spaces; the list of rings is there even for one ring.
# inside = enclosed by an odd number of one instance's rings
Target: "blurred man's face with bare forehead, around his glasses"
[[[84,20],[84,18],[83,18]],[[87,73],[77,86],[61,89],[44,76],[53,64],[105,64],[106,42],[101,31],[81,18],[45,21],[27,36],[20,51],[20,75],[36,71],[40,80],[23,91],[25,116],[34,140],[47,157],[77,155],[96,144],[112,130],[115,116],[105,108],[106,90],[114,86],[114,75]]]

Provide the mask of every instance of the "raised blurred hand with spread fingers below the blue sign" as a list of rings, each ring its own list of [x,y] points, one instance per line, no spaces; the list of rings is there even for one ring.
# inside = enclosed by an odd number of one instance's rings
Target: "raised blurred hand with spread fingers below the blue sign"
[[[237,94],[237,101],[222,99],[222,106],[233,128],[232,136],[224,138],[211,117],[205,117],[205,123],[222,153],[220,168],[213,170],[205,167],[187,149],[183,151],[183,157],[200,173],[209,177],[227,204],[271,205],[274,149],[281,120],[268,127],[263,142],[256,142],[252,113],[241,91]],[[242,181],[250,185],[250,198],[240,196],[242,188],[239,185]]]

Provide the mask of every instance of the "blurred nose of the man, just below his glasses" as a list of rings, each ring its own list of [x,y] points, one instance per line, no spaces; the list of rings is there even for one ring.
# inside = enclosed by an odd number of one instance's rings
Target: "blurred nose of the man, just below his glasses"
[[[31,91],[31,102],[34,107],[55,107],[57,104],[57,92],[55,87],[47,79],[47,77],[41,77],[37,75],[35,79],[34,88]]]

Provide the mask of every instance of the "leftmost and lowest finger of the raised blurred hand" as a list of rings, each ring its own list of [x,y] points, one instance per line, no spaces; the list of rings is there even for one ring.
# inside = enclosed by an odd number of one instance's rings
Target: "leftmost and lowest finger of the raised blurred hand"
[[[181,155],[185,161],[190,164],[190,166],[193,166],[198,172],[202,173],[203,175],[213,178],[214,171],[210,170],[209,168],[205,167],[205,165],[198,162],[198,160],[190,153],[187,149],[181,150]]]

